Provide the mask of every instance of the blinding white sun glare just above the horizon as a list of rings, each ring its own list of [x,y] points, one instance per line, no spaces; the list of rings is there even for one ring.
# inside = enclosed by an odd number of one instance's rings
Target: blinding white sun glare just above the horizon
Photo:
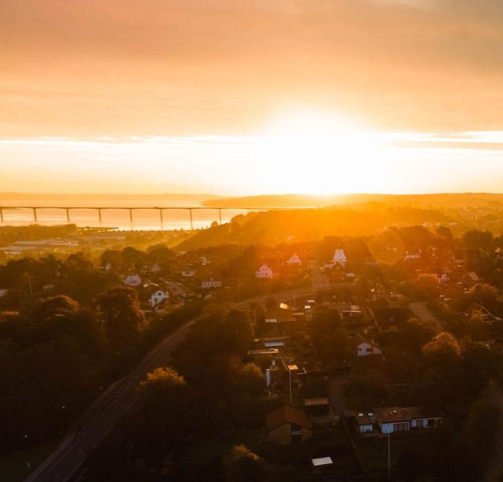
[[[361,192],[371,177],[378,182],[375,163],[383,156],[378,136],[365,126],[302,109],[267,123],[258,163],[276,179],[273,192],[329,194]]]

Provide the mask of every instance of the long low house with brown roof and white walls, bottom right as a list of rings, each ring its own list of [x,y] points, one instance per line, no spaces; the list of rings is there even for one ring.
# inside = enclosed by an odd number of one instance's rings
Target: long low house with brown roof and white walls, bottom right
[[[406,432],[415,428],[440,426],[444,414],[440,410],[424,412],[419,407],[375,408],[378,428],[383,434]]]

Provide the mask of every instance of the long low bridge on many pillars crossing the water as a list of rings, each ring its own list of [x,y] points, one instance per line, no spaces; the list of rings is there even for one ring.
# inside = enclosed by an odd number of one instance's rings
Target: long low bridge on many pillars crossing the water
[[[17,209],[30,209],[33,213],[33,220],[34,222],[38,221],[37,218],[37,213],[41,209],[61,209],[65,211],[66,213],[66,220],[68,222],[71,222],[70,219],[70,211],[74,211],[76,209],[91,209],[94,211],[97,211],[98,213],[98,219],[99,222],[101,222],[101,213],[102,211],[105,211],[105,209],[114,209],[114,210],[125,210],[129,211],[130,213],[130,221],[133,222],[133,211],[138,211],[140,209],[148,209],[148,210],[156,210],[159,211],[159,219],[161,220],[161,225],[164,222],[164,216],[163,212],[168,211],[168,210],[173,210],[173,209],[183,209],[185,211],[189,211],[189,218],[190,218],[190,229],[194,229],[194,220],[192,218],[192,212],[197,210],[197,209],[212,209],[215,211],[218,211],[218,221],[220,224],[222,224],[222,211],[225,209],[234,209],[234,210],[241,210],[241,211],[247,211],[249,213],[250,211],[270,211],[271,209],[275,210],[285,210],[285,209],[319,209],[319,206],[261,206],[261,207],[243,207],[243,206],[220,206],[220,207],[213,207],[213,206],[169,206],[169,207],[159,207],[159,206],[154,206],[154,207],[113,207],[113,206],[1,206],[0,205],[0,222],[3,222],[3,213],[4,211],[12,211],[12,210],[17,210]]]

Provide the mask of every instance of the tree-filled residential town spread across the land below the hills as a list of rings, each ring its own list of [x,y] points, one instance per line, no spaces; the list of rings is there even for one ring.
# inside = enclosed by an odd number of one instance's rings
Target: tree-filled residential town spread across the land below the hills
[[[63,434],[184,330],[88,447],[85,480],[474,480],[497,457],[503,238],[409,226],[276,247],[123,242],[96,262],[57,255],[68,242],[4,251],[3,450]]]

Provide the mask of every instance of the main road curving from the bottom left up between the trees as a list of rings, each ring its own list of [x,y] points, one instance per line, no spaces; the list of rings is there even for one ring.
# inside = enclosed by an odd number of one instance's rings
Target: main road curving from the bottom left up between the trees
[[[250,302],[263,303],[267,297],[289,301],[311,293],[311,288],[296,289],[255,297],[238,305],[244,307]],[[85,461],[88,450],[103,440],[114,424],[134,404],[138,384],[145,379],[147,373],[163,366],[169,360],[172,349],[183,340],[191,326],[200,318],[201,316],[198,316],[187,320],[176,331],[164,337],[132,373],[107,388],[74,425],[58,448],[25,479],[25,482],[67,482],[72,479]]]

